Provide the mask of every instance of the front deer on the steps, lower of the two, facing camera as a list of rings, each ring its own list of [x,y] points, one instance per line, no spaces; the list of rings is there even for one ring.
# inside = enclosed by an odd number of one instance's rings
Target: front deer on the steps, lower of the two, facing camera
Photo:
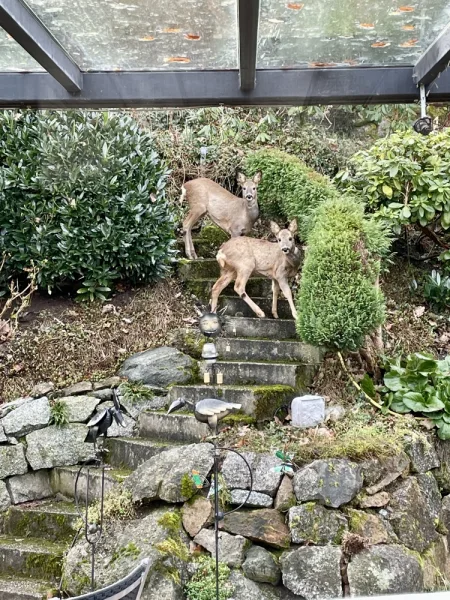
[[[258,317],[265,317],[263,311],[245,292],[247,281],[255,273],[272,280],[272,314],[274,318],[278,319],[277,307],[280,289],[289,302],[292,316],[294,319],[297,318],[288,282],[289,278],[295,277],[300,266],[301,253],[294,241],[297,221],[295,219],[291,221],[287,229],[281,229],[272,221],[270,229],[277,237],[276,244],[249,237],[234,238],[222,244],[216,255],[220,265],[220,277],[211,290],[211,312],[216,311],[221,291],[234,281],[234,291]]]

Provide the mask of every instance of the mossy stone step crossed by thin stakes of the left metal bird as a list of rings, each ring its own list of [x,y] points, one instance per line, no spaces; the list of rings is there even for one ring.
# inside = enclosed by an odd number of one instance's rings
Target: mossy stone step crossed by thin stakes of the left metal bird
[[[78,475],[79,467],[55,467],[52,469],[50,480],[53,492],[63,494],[67,498],[75,497],[75,481]],[[105,492],[108,492],[118,483],[124,481],[131,471],[127,469],[105,470]],[[81,500],[86,499],[87,468],[85,467],[78,480],[78,496]],[[90,467],[89,469],[89,502],[98,500],[101,497],[102,474],[101,469]]]

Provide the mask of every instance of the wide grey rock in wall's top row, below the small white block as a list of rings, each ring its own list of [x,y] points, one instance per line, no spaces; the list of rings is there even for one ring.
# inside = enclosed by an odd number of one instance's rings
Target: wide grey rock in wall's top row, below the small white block
[[[339,458],[315,460],[294,475],[294,492],[299,502],[317,500],[333,508],[353,500],[362,484],[359,465]]]

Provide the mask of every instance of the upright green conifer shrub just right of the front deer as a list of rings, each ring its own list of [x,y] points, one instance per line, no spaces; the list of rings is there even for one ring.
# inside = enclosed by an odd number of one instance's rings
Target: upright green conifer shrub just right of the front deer
[[[384,320],[374,251],[388,245],[386,234],[352,198],[325,201],[314,221],[297,298],[297,330],[316,346],[356,350]]]

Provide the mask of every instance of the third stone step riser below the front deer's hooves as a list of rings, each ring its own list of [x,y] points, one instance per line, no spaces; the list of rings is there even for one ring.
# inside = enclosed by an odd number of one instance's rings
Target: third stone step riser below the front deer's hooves
[[[316,365],[222,360],[215,368],[223,373],[224,385],[289,385],[296,391],[305,391],[316,371]]]

